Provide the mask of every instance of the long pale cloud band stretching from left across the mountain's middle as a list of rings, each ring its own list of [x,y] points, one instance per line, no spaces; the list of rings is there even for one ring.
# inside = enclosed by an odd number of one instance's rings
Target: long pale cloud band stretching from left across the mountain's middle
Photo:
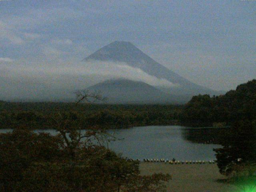
[[[74,78],[79,76],[93,79],[88,86],[104,80],[116,78],[141,81],[152,86],[179,86],[178,84],[174,84],[164,78],[151,76],[139,68],[134,68],[121,62],[92,61],[66,63],[56,62],[48,64],[41,62],[16,61],[11,66],[6,67],[9,71],[8,76],[10,77],[16,77],[16,74],[19,74],[20,77],[36,78],[39,81],[42,80],[42,82],[51,83],[54,83],[56,79],[63,76],[70,77],[70,79],[66,79],[65,83],[68,83],[68,80],[73,81]],[[84,86],[86,85],[84,84]]]

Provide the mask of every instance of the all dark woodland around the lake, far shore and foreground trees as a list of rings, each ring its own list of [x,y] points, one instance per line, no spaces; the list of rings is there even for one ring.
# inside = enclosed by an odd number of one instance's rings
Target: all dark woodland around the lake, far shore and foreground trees
[[[194,96],[184,106],[1,101],[0,126],[14,131],[0,134],[0,189],[4,192],[165,191],[164,183],[171,179],[170,175],[142,176],[138,161],[129,161],[93,141],[99,141],[99,136],[105,141],[115,140],[108,135],[109,128],[170,124],[226,126],[214,132],[203,130],[215,138],[213,143],[222,145],[214,149],[220,173],[229,176],[229,182],[254,186],[256,80],[225,95]],[[59,134],[32,132],[49,128]],[[81,129],[87,129],[86,133],[82,135]],[[186,139],[198,140],[195,136],[198,130],[188,132]]]

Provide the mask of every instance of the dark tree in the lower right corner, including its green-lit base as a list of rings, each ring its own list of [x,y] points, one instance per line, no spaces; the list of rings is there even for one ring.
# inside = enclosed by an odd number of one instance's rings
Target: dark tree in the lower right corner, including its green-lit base
[[[242,192],[256,188],[256,121],[240,120],[222,141],[223,148],[214,149],[221,174]]]

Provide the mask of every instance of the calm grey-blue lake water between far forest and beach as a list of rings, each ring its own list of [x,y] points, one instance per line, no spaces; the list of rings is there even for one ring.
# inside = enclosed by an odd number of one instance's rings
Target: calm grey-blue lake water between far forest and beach
[[[216,144],[199,144],[186,140],[190,128],[184,126],[143,126],[129,129],[110,130],[117,138],[110,142],[109,148],[124,157],[143,158],[175,158],[176,160],[215,160],[213,148]],[[11,130],[0,130],[8,132]],[[56,134],[55,130],[36,130]],[[200,135],[198,135],[200,137]]]

